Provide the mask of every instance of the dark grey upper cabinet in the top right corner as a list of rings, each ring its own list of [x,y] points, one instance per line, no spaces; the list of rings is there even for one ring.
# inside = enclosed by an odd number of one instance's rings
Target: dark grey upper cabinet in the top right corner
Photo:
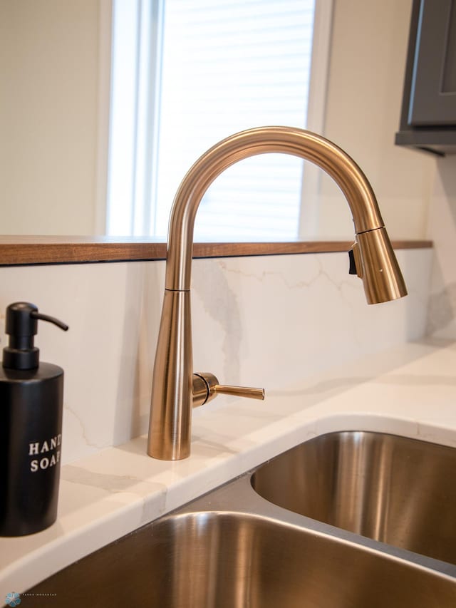
[[[456,154],[456,0],[414,0],[395,143]]]

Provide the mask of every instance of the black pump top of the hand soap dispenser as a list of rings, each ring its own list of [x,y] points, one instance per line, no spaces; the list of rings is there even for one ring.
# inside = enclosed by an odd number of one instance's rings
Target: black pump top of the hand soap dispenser
[[[5,331],[9,346],[3,349],[3,366],[8,369],[33,369],[39,364],[39,349],[33,346],[33,336],[38,333],[38,319],[48,321],[67,331],[68,325],[53,316],[41,314],[38,307],[29,302],[15,302],[6,308]]]

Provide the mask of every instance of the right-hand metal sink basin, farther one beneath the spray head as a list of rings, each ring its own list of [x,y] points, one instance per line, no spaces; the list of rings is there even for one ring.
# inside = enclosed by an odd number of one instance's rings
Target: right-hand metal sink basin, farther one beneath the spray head
[[[330,433],[261,466],[271,503],[456,565],[456,450],[382,433]]]

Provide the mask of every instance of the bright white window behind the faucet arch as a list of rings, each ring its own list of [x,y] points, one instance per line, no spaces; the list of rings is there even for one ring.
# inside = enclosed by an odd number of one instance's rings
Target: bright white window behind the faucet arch
[[[323,18],[315,0],[113,0],[108,235],[165,237],[182,177],[222,138],[318,130],[309,110],[326,68],[309,96],[311,63],[327,57],[331,16],[318,4]],[[298,237],[303,183],[314,181],[290,155],[237,163],[204,195],[195,238]]]

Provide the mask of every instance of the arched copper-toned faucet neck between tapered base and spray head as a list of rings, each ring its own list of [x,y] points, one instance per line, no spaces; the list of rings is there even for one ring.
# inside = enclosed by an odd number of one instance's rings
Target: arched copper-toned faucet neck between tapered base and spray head
[[[222,140],[202,155],[177,190],[170,217],[166,289],[190,289],[195,217],[209,185],[239,160],[264,153],[299,156],[331,175],[346,196],[356,234],[383,227],[371,185],[341,148],[320,135],[297,128],[259,127],[242,131]]]

